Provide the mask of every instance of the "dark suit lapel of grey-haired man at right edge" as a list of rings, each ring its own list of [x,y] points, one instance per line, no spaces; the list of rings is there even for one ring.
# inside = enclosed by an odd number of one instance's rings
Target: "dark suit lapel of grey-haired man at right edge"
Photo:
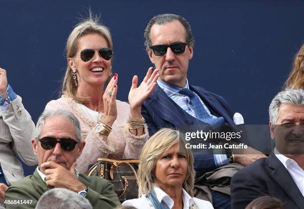
[[[304,206],[303,195],[287,169],[274,153],[268,157],[268,166],[273,169],[271,172],[272,178],[280,185],[290,199],[293,200],[299,208],[302,208]]]

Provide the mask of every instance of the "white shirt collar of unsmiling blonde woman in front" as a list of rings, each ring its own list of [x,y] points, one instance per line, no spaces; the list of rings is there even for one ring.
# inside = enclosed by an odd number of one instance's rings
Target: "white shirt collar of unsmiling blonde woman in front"
[[[183,197],[183,205],[184,205],[183,209],[189,209],[190,206],[192,206],[192,204],[193,204],[193,198],[191,198],[191,196],[186,192],[186,190],[184,190],[184,189],[182,189],[182,190],[183,190],[182,197]],[[164,191],[162,191],[157,186],[154,186],[154,191],[155,191],[156,198],[159,203],[161,203],[161,201],[163,201],[169,207],[169,209],[171,209],[173,207],[174,201],[169,197],[169,195],[167,195]],[[151,208],[154,208],[149,199],[148,199],[148,201],[149,201]]]

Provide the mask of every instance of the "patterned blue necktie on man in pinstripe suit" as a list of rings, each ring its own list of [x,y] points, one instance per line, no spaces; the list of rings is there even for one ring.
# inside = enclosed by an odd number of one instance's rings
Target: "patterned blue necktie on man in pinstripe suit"
[[[185,94],[190,97],[197,119],[209,124],[214,128],[220,125],[224,125],[225,123],[224,118],[223,117],[212,118],[205,110],[203,104],[201,103],[200,98],[193,91],[191,91],[188,88],[183,88],[182,90],[179,91],[179,93]]]

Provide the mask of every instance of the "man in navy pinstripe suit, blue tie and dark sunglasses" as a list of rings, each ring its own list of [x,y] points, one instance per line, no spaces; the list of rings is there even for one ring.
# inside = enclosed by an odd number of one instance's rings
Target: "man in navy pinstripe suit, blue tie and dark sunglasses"
[[[144,35],[149,58],[159,70],[154,92],[142,106],[150,136],[164,127],[180,129],[184,125],[243,123],[241,115],[234,115],[223,97],[189,85],[187,71],[193,57],[194,39],[185,18],[176,14],[156,15],[148,22]],[[195,154],[194,166],[202,175],[229,162],[247,165],[265,157],[263,154],[231,155],[232,161],[226,154]],[[214,191],[212,195],[215,208],[230,208],[229,196]]]

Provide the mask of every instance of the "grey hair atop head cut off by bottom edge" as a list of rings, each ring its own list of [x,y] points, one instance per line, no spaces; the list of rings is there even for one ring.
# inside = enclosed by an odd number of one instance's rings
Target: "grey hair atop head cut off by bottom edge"
[[[92,209],[90,202],[76,192],[54,188],[45,192],[35,209]]]

